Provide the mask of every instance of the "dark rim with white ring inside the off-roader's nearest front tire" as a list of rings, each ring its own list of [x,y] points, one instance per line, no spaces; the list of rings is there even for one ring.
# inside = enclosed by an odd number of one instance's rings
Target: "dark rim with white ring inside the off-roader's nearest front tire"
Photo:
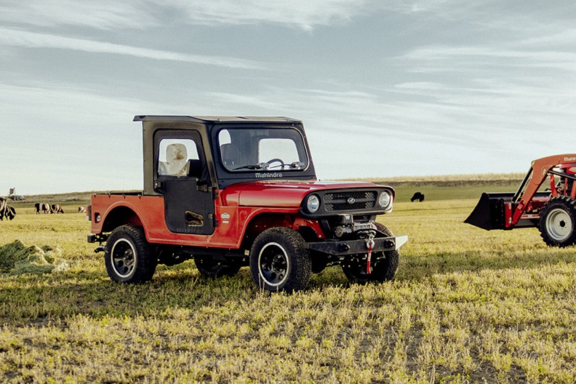
[[[278,287],[288,276],[290,262],[286,250],[278,243],[267,243],[258,255],[260,277],[267,285]]]

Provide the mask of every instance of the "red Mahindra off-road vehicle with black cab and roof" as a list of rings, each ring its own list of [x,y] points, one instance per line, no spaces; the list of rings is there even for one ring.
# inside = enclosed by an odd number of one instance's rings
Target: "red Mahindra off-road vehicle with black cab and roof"
[[[158,263],[192,258],[203,276],[250,265],[270,291],[303,289],[328,265],[356,282],[394,277],[407,236],[376,223],[392,212],[394,189],[318,181],[301,121],[134,121],[143,122],[143,191],[95,194],[88,206],[88,242],[100,243],[112,280],[149,280]]]

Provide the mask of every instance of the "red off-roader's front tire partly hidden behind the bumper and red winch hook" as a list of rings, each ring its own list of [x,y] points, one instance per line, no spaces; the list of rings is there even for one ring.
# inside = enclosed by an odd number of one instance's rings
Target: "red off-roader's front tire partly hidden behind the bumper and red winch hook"
[[[392,232],[380,223],[376,223],[376,228],[388,236],[393,236]],[[342,270],[352,283],[383,283],[392,280],[398,269],[398,251],[374,252],[370,265],[370,274],[366,273],[366,262],[344,262]]]

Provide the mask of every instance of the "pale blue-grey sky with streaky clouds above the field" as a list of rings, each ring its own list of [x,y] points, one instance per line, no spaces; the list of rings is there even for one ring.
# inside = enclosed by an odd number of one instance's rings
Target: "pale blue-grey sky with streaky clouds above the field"
[[[301,119],[318,178],[576,153],[576,2],[0,0],[0,195],[142,189],[134,115]]]

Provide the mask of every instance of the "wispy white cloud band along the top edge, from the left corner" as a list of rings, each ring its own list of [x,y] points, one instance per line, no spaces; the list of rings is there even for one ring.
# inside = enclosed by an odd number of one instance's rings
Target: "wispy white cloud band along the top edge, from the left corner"
[[[195,25],[266,23],[310,30],[322,25],[346,23],[367,12],[366,3],[365,0],[30,0],[0,5],[0,20],[41,27],[75,25],[97,29],[141,29],[160,24],[157,16],[167,12],[184,15],[189,24]]]

